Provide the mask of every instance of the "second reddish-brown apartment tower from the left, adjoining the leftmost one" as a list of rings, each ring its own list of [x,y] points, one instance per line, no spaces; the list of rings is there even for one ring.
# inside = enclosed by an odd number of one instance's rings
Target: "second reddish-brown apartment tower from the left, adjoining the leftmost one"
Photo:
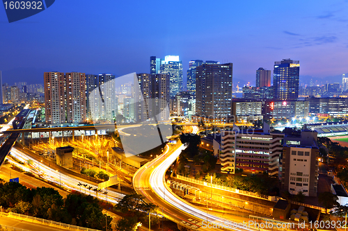
[[[66,116],[68,123],[86,121],[86,75],[65,73]]]

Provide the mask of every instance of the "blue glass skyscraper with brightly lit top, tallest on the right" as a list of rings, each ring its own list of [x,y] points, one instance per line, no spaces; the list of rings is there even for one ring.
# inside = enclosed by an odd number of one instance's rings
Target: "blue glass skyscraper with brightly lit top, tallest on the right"
[[[291,100],[299,97],[300,62],[290,59],[274,62],[274,99]]]

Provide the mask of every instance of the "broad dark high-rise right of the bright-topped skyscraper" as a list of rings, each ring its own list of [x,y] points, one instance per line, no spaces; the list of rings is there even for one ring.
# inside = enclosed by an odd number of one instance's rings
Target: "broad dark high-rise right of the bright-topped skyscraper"
[[[196,114],[229,117],[232,104],[232,63],[196,67]]]

